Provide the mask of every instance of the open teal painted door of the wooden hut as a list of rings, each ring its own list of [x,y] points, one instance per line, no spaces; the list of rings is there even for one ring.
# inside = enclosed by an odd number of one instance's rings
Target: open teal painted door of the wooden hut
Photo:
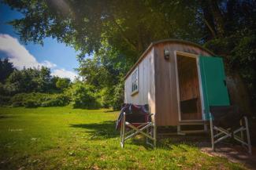
[[[205,118],[209,119],[210,106],[228,106],[228,89],[224,64],[220,57],[199,56]]]

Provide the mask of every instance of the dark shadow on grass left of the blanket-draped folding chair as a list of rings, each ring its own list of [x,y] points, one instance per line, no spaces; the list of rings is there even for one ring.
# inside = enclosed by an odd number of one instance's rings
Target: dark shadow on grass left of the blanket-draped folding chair
[[[70,125],[72,128],[85,128],[90,134],[90,139],[109,139],[119,136],[119,131],[116,130],[116,121],[102,121],[92,124],[75,124]]]

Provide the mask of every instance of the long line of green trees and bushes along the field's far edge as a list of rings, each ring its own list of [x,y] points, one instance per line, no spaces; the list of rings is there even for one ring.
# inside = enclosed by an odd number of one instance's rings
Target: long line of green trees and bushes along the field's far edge
[[[0,60],[0,106],[73,108],[111,107],[107,89],[95,88],[76,78],[50,75],[47,67],[17,70],[8,59]],[[112,94],[111,94],[112,95]]]

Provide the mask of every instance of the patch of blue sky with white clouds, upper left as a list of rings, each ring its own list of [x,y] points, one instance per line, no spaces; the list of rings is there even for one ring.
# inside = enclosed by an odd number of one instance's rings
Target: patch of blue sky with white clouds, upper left
[[[73,79],[78,67],[76,52],[72,47],[58,43],[54,38],[45,38],[44,45],[29,42],[24,45],[8,21],[19,19],[22,14],[0,3],[0,58],[9,57],[17,68],[43,65],[50,67],[53,75]]]

